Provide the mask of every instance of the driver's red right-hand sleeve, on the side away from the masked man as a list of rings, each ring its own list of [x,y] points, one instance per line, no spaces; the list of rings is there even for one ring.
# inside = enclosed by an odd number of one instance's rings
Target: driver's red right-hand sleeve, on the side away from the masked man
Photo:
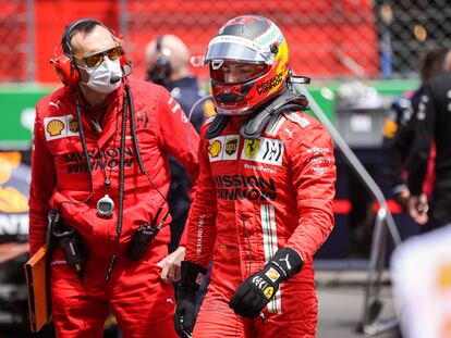
[[[332,230],[336,166],[332,140],[321,125],[312,125],[291,143],[293,184],[297,191],[298,225],[288,247],[309,260]]]

